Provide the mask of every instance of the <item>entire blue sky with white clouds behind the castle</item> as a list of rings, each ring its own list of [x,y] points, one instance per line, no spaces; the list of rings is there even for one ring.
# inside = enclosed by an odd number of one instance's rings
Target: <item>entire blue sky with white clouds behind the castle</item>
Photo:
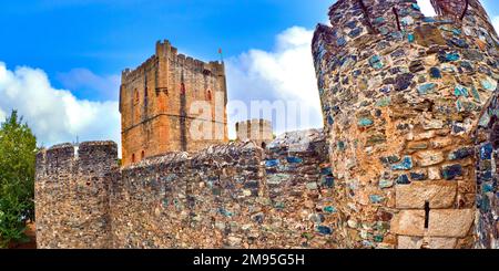
[[[206,61],[222,48],[230,100],[296,102],[309,111],[303,114],[312,121],[275,127],[277,134],[319,127],[310,40],[334,2],[0,0],[0,118],[19,110],[45,146],[77,137],[120,142],[121,71],[169,39]],[[499,25],[499,1],[482,3]],[[231,117],[232,135],[238,118]]]

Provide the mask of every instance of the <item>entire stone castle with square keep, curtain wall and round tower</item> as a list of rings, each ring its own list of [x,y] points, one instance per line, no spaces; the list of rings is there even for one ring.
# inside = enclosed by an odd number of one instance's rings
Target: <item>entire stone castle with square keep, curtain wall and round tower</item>
[[[478,0],[431,3],[337,1],[312,48],[325,128],[275,139],[226,143],[225,113],[189,138],[224,66],[159,43],[123,73],[124,167],[111,142],[38,154],[38,247],[499,248],[499,39]]]

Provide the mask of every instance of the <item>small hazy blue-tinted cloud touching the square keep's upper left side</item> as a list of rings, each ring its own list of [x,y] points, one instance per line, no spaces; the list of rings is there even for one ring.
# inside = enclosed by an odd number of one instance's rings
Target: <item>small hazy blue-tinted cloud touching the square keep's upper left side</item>
[[[57,77],[63,87],[79,91],[83,97],[96,101],[118,100],[121,82],[119,75],[100,76],[86,69],[73,69],[68,73],[59,73]]]

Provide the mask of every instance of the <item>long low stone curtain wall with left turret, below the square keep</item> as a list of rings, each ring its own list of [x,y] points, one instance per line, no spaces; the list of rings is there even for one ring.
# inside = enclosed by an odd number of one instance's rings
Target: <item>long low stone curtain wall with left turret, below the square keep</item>
[[[283,135],[266,150],[246,142],[171,153],[121,171],[115,145],[102,146],[82,144],[78,158],[71,145],[40,153],[40,248],[336,247],[322,131]]]

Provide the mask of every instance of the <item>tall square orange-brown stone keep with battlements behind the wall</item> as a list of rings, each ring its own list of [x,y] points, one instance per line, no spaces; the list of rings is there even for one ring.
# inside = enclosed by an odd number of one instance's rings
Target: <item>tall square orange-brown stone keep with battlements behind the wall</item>
[[[204,63],[157,42],[155,55],[122,73],[123,165],[227,142],[226,103],[224,63]]]

